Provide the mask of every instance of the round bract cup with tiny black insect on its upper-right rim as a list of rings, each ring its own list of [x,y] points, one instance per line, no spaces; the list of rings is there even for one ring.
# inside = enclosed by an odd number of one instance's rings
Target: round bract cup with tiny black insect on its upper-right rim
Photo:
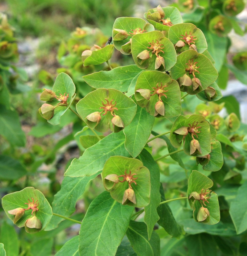
[[[140,74],[135,86],[135,99],[150,115],[174,117],[181,113],[179,85],[160,71]]]

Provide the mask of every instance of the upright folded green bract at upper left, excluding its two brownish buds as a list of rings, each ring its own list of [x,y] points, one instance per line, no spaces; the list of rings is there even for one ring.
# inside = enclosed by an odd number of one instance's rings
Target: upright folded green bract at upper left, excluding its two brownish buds
[[[56,107],[54,110],[53,117],[47,121],[52,125],[57,125],[60,123],[61,116],[67,111],[67,109],[70,107],[71,103],[75,98],[75,85],[69,75],[65,73],[60,73],[56,77],[55,83],[52,87],[52,91],[54,91],[56,95],[69,94],[67,106],[62,106],[62,105],[57,106],[57,102],[58,102],[57,99],[53,99],[52,101],[46,101],[46,103]]]

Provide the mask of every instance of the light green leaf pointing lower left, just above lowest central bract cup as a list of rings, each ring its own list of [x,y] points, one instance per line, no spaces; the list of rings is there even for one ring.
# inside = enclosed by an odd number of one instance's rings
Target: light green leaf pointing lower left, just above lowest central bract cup
[[[105,161],[110,156],[130,156],[124,147],[125,135],[123,131],[111,133],[90,148],[87,148],[79,159],[73,159],[65,172],[66,176],[91,176],[103,169]]]

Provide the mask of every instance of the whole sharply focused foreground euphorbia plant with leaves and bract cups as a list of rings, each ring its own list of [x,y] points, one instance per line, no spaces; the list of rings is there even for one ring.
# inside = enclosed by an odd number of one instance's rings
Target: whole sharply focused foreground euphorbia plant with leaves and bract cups
[[[179,162],[180,157],[174,155],[184,151],[207,171],[215,172],[223,164],[221,146],[215,139],[216,130],[210,121],[204,115],[188,114],[181,108],[181,99],[188,94],[196,97],[200,93],[198,98],[208,102],[221,98],[215,83],[218,73],[208,58],[203,32],[191,23],[182,23],[175,7],[158,6],[148,10],[145,18],[149,23],[141,18],[116,19],[112,31],[113,45],[103,48],[95,45],[82,52],[84,66],[103,62],[109,65],[109,71],[84,77],[89,86],[96,90],[76,103],[75,93],[78,90],[72,79],[61,73],[53,88],[44,89],[41,94],[41,100],[46,103],[39,111],[49,123],[59,124],[61,116],[71,111],[80,119],[79,134],[82,137],[84,134],[93,136],[93,145],[86,148],[79,159],[74,159],[65,172],[61,191],[71,177],[83,184],[75,198],[69,196],[65,200],[72,200],[70,204],[75,205],[89,181],[100,174],[106,190],[92,201],[81,223],[77,243],[79,255],[115,255],[125,234],[138,255],[140,247],[146,248],[147,244],[152,253],[147,249],[140,255],[159,255],[160,238],[153,230],[156,222],[171,236],[174,233],[162,222],[166,219],[163,214],[172,216],[171,211],[157,210],[166,202],[161,202],[163,187],[160,190],[157,163],[162,163],[161,159],[169,155]],[[135,64],[112,69],[109,59],[113,47],[122,54],[132,55]],[[161,125],[165,120],[170,120],[171,131],[164,130],[163,134],[156,135],[158,138],[170,133],[169,138],[165,136],[170,147],[168,154],[154,160],[147,143],[151,141],[149,136],[155,117],[159,118]],[[234,122],[234,118],[231,120]],[[214,164],[212,159],[216,158],[219,162]],[[181,166],[181,162],[179,164]],[[213,182],[196,170],[187,172],[190,173],[187,197],[180,199],[189,199],[196,222],[217,223],[220,218],[218,199],[209,189]],[[20,196],[25,197],[25,201],[39,198],[31,190],[29,192]],[[61,196],[62,192],[58,192],[52,204],[53,212],[57,214],[62,214],[57,212],[57,201]],[[15,200],[17,204],[9,203],[11,200],[7,200],[8,197],[14,195],[4,197],[3,207],[11,220],[22,226],[26,223],[27,209],[21,210],[19,197]],[[34,217],[42,217],[45,214],[43,201],[39,199],[37,207],[33,203],[29,202],[32,214],[34,212]],[[144,210],[133,213],[135,207],[144,207]],[[73,210],[60,210],[65,217],[73,213]],[[143,211],[145,223],[134,222]],[[33,226],[35,231],[51,230],[61,221],[57,216],[52,216],[50,223],[46,220],[45,217],[40,218],[41,225],[33,220],[36,222]],[[93,223],[93,226],[89,223]],[[179,230],[176,236],[184,233],[182,228]],[[92,242],[96,238],[98,242]]]

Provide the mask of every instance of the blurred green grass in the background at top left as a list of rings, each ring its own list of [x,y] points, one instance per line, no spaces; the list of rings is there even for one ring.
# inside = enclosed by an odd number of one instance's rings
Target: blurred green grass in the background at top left
[[[111,34],[117,17],[132,16],[136,0],[4,0],[2,3],[7,5],[9,21],[17,36],[63,37],[86,24]]]

